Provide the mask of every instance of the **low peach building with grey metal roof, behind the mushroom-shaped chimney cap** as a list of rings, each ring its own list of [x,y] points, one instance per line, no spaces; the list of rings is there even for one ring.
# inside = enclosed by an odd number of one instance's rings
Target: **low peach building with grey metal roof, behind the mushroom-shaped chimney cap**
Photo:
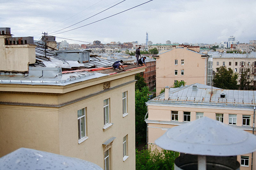
[[[165,90],[146,102],[148,145],[155,147],[155,140],[166,130],[203,116],[252,133],[256,91],[223,90],[198,83]],[[237,160],[241,170],[251,169],[251,153],[238,155]],[[256,159],[253,159],[255,167]]]

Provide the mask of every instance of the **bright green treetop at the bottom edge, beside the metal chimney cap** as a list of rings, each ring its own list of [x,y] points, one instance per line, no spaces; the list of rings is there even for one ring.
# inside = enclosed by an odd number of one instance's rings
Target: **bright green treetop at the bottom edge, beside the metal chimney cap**
[[[136,150],[136,170],[165,170],[174,169],[174,160],[179,156],[179,152],[163,150],[157,148],[141,151]]]

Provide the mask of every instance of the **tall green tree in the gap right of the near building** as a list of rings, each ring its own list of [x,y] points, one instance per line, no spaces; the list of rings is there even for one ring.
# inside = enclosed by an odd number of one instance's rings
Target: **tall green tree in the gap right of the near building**
[[[148,111],[145,104],[149,100],[148,94],[148,86],[135,91],[135,140],[139,143],[145,141],[147,135],[147,124],[144,118]]]

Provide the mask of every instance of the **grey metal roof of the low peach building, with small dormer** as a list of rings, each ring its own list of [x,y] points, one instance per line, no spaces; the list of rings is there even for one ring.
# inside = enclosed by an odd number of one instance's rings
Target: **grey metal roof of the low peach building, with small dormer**
[[[193,87],[194,86],[194,87]],[[195,87],[196,86],[196,87]],[[221,98],[220,94],[225,93]],[[165,102],[183,102],[183,103],[207,103],[224,105],[256,105],[256,91],[249,90],[226,90],[208,85],[195,83],[178,88],[170,88],[169,100],[164,100],[164,93],[150,102],[163,100]]]

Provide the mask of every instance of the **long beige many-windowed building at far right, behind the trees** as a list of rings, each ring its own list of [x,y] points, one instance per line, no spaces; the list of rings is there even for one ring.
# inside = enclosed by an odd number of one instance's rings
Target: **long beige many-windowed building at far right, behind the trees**
[[[249,54],[235,54],[235,53],[221,53],[221,52],[208,52],[209,61],[212,61],[213,71],[220,66],[225,66],[227,69],[231,68],[234,73],[238,74],[237,82],[239,84],[240,75],[245,71],[245,69],[250,69],[250,80],[252,81],[251,85],[256,85],[256,53]],[[207,66],[210,70],[211,66]],[[209,71],[208,75],[210,75]],[[207,79],[207,85],[211,85],[211,78]]]

